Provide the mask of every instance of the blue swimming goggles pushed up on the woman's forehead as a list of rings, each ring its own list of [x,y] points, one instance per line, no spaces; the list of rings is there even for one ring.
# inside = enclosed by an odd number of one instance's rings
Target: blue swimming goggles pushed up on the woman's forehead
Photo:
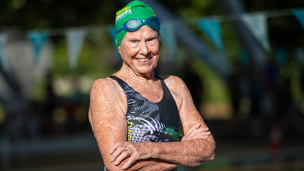
[[[120,29],[116,30],[115,34],[121,32],[122,30],[126,31],[135,31],[140,29],[143,24],[147,24],[151,29],[161,29],[161,20],[158,17],[152,16],[147,19],[128,19]]]

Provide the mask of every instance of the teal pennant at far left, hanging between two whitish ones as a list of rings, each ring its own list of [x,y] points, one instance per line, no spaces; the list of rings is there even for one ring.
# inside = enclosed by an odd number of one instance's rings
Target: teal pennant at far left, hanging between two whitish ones
[[[28,39],[32,42],[33,45],[33,63],[36,64],[40,58],[40,51],[43,48],[45,41],[47,40],[47,33],[33,31],[28,34]]]

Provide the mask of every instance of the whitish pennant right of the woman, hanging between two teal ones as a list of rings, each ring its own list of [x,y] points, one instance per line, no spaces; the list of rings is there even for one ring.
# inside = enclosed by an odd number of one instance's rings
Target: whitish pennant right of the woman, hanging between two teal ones
[[[241,19],[266,51],[270,51],[268,42],[267,17],[263,12],[242,14]]]

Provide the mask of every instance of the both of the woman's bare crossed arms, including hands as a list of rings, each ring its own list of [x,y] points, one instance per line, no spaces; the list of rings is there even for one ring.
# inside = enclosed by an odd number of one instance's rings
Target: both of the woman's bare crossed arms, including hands
[[[94,82],[89,117],[105,166],[110,171],[170,170],[180,164],[198,166],[214,159],[214,139],[196,110],[187,86],[178,77],[167,79],[169,88],[172,82],[175,85],[172,87],[181,92],[174,94],[176,91],[171,89],[174,99],[180,98],[182,102],[179,113],[186,134],[181,142],[126,141],[126,116],[117,93],[122,90],[107,79]]]

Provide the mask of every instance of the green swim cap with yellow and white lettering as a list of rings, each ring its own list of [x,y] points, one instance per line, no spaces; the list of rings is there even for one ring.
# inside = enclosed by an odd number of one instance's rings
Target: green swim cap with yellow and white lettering
[[[141,1],[132,1],[122,9],[116,12],[115,29],[118,30],[128,19],[147,19],[156,16],[153,9]],[[145,24],[143,24],[145,25]],[[159,30],[157,30],[159,32]],[[127,31],[122,30],[115,35],[116,45],[119,46]]]

